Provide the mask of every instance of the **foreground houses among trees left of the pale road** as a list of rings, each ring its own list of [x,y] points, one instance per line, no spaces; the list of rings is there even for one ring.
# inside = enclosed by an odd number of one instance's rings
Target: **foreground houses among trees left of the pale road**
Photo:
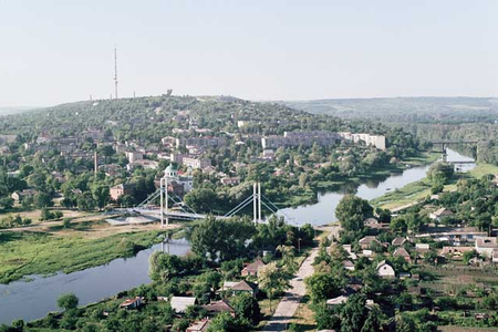
[[[240,276],[243,277],[243,279],[238,281],[225,281],[220,289],[215,290],[218,300],[211,300],[209,303],[200,304],[200,308],[206,311],[207,317],[200,321],[194,322],[186,331],[207,331],[209,324],[211,323],[211,319],[221,312],[228,312],[235,318],[236,311],[230,304],[229,297],[240,293],[248,293],[256,298],[259,293],[258,284],[249,280],[256,280],[258,278],[258,273],[264,268],[264,266],[266,264],[259,258],[252,263],[245,264],[240,272]],[[157,301],[169,302],[177,317],[184,315],[189,307],[199,305],[199,301],[196,297],[157,297]],[[120,308],[133,310],[145,304],[144,298],[135,297],[126,299],[120,304]]]

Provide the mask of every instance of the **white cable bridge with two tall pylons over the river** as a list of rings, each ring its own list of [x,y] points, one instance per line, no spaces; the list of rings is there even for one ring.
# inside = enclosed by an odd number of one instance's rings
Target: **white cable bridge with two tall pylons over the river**
[[[178,195],[167,190],[168,181],[172,178],[163,177],[160,179],[159,188],[149,195],[144,201],[133,208],[127,208],[126,211],[131,214],[139,214],[143,216],[152,217],[160,220],[160,226],[168,226],[169,220],[195,220],[204,219],[207,217],[205,214],[196,212],[190,206],[188,206]],[[157,205],[159,203],[159,205]],[[173,203],[174,208],[169,207],[169,203]],[[252,195],[249,195],[240,204],[234,207],[231,210],[222,216],[215,216],[219,219],[228,219],[237,214],[241,212],[248,206],[252,205],[252,219],[253,222],[266,222],[261,217],[262,207],[267,208],[271,214],[278,214],[279,208],[264,195],[261,194],[261,184],[255,183],[252,186]],[[289,216],[280,211],[286,219],[291,220]]]

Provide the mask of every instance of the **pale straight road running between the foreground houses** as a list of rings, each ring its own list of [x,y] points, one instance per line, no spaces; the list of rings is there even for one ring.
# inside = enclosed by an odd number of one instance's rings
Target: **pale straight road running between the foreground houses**
[[[333,236],[338,237],[339,227],[323,227],[325,231],[330,231],[329,238]],[[291,288],[286,292],[282,300],[280,301],[273,317],[268,321],[263,331],[286,331],[287,325],[290,323],[298,310],[301,298],[305,294],[307,288],[304,286],[304,278],[313,274],[313,260],[318,255],[319,248],[313,248],[310,256],[303,261],[299,268],[298,274],[291,280]]]

